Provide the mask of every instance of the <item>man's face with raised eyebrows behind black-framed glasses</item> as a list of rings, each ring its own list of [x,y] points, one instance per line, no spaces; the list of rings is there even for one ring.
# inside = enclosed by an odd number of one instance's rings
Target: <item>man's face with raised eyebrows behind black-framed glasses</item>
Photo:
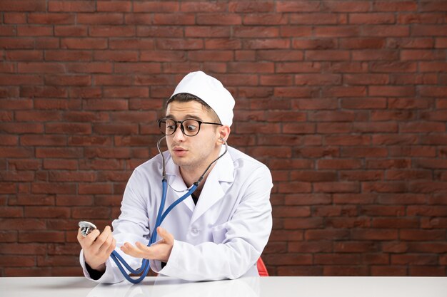
[[[166,118],[176,121],[192,118],[203,122],[215,122],[209,111],[196,101],[169,103],[166,108]],[[201,125],[199,134],[195,136],[184,135],[180,125],[173,135],[166,136],[168,149],[174,163],[188,170],[204,170],[203,167],[208,166],[217,157],[218,140],[219,128],[206,124]]]

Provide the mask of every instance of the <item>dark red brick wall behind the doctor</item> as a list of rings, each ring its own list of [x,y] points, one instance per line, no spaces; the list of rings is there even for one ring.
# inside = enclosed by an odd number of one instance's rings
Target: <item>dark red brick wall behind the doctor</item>
[[[80,275],[189,71],[271,168],[272,275],[446,276],[446,1],[0,1],[0,276]]]

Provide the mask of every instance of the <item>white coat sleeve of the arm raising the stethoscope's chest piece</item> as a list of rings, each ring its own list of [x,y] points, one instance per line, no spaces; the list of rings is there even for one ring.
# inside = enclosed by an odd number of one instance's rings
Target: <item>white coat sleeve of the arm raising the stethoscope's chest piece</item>
[[[149,242],[149,217],[147,212],[147,200],[144,193],[149,192],[149,182],[137,170],[134,170],[129,182],[124,190],[123,201],[121,202],[121,214],[119,219],[112,222],[113,234],[116,239],[116,249],[126,262],[133,268],[138,269],[141,266],[141,259],[124,254],[119,247],[124,242],[129,241],[134,244],[136,241],[147,244]],[[91,279],[86,270],[84,253],[81,250],[79,261],[84,271],[84,275]],[[94,281],[93,279],[91,279]],[[106,272],[96,280],[99,283],[118,283],[124,280],[124,276],[119,271],[115,262],[109,258],[106,261]]]

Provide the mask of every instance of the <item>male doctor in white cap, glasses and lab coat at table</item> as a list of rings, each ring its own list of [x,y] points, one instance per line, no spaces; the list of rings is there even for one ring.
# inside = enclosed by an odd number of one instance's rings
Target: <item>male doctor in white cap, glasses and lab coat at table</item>
[[[221,82],[201,71],[189,73],[177,85],[166,103],[166,116],[159,120],[168,147],[165,209],[224,154],[233,106]],[[110,226],[86,237],[79,231],[85,276],[101,283],[123,281],[109,258],[116,246],[132,268],[149,259],[151,269],[164,276],[189,281],[258,276],[256,261],[272,227],[268,168],[228,146],[194,194],[169,213],[157,229],[158,241],[148,247],[161,200],[162,162],[157,155],[134,170],[113,232]]]

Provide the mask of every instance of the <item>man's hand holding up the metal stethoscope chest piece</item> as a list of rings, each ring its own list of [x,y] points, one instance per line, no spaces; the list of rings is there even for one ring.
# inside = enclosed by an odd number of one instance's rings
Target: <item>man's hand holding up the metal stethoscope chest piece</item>
[[[110,226],[106,226],[102,233],[98,229],[82,236],[81,228],[78,231],[78,241],[84,251],[84,259],[91,269],[106,271],[106,261],[116,246],[116,240],[111,233]]]

